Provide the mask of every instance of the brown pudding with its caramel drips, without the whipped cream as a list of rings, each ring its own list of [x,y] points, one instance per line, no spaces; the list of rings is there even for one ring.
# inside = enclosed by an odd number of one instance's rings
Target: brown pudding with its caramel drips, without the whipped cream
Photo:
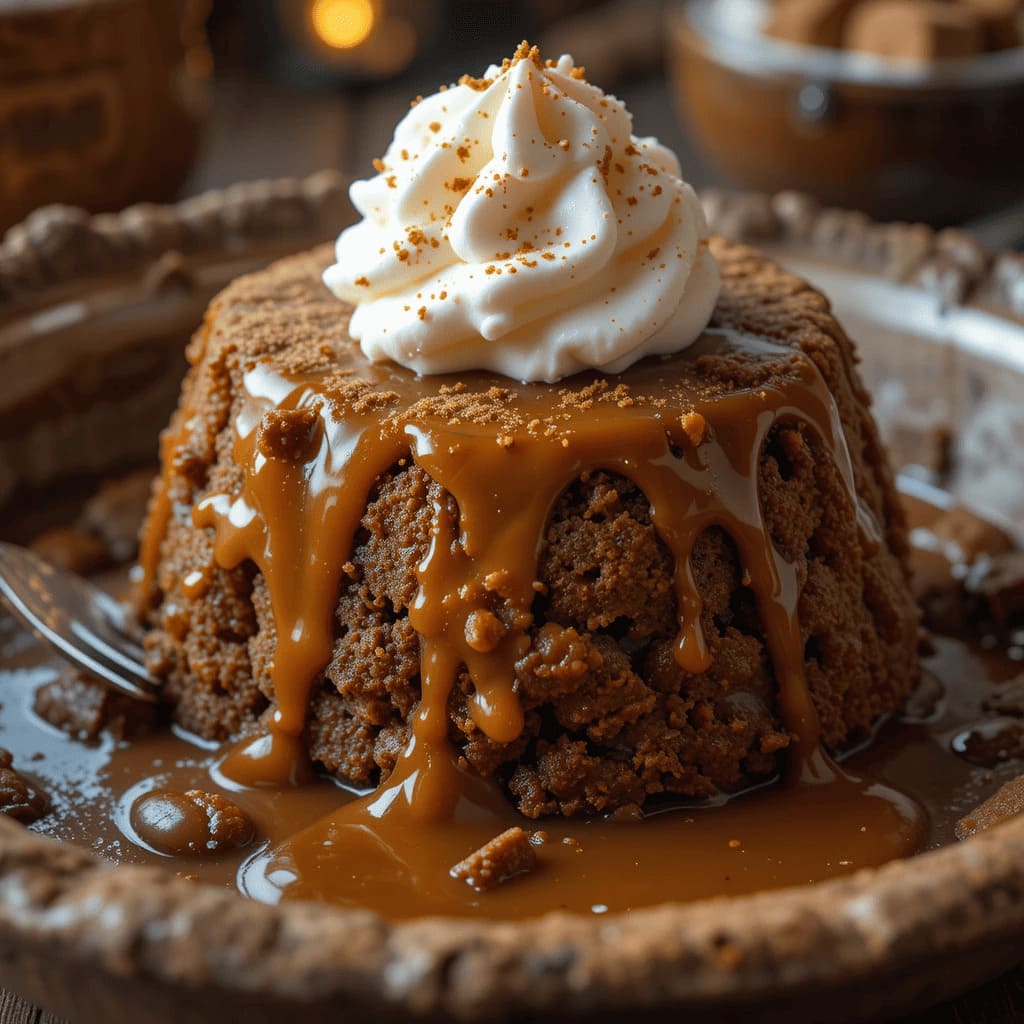
[[[697,346],[558,385],[369,364],[324,255],[233,286],[194,345],[143,545],[177,720],[308,729],[308,756],[361,785],[425,756],[531,817],[714,796],[783,750],[809,766],[819,728],[830,750],[866,735],[918,673],[891,478],[848,342],[814,327],[823,300],[717,251]],[[274,335],[269,357],[250,340]]]

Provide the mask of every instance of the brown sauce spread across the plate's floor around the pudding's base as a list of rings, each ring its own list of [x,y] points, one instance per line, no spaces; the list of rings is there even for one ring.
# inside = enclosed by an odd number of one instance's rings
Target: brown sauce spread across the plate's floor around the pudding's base
[[[911,511],[919,520],[927,514]],[[267,902],[330,900],[396,920],[614,913],[819,882],[953,842],[956,820],[1024,769],[1018,757],[976,764],[955,742],[991,720],[985,705],[1019,674],[1024,649],[1011,644],[1008,653],[1005,643],[969,633],[931,642],[919,692],[844,759],[841,774],[700,805],[666,803],[643,821],[528,822],[497,790],[467,776],[468,796],[452,818],[424,827],[408,805],[382,813],[387,791],[368,797],[326,779],[297,790],[241,787],[218,772],[223,749],[178,731],[76,742],[31,711],[34,689],[56,675],[58,658],[2,615],[0,746],[50,799],[34,829],[119,863],[160,865]],[[242,808],[254,825],[252,845],[171,856],[155,848],[159,837],[139,835],[131,812],[140,798],[194,788],[220,792]],[[451,878],[454,864],[510,823],[544,834],[536,837],[544,839],[537,870],[485,893]],[[186,834],[185,846],[198,836]]]

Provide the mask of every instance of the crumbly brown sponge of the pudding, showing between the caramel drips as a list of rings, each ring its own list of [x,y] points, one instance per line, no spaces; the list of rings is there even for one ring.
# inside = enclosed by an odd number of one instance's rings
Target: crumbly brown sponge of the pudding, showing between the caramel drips
[[[833,454],[812,431],[801,423],[772,428],[758,462],[762,514],[771,543],[797,566],[804,671],[821,740],[835,752],[866,734],[918,679],[902,514],[853,347],[827,301],[751,249],[720,241],[713,249],[723,289],[711,326],[785,348],[758,358],[741,345],[694,353],[692,372],[728,393],[786,374],[796,353],[809,356],[835,399],[859,502],[881,526],[881,543],[858,527]],[[151,627],[151,669],[176,720],[203,736],[226,739],[256,727],[273,701],[276,639],[263,577],[251,562],[217,565],[213,530],[195,526],[191,509],[242,485],[232,424],[246,371],[264,360],[282,373],[329,372],[339,346],[351,349],[346,307],[319,280],[329,260],[328,248],[293,257],[215,300],[189,348],[182,407],[165,437],[160,487],[170,515],[165,521],[154,503],[140,608]],[[628,386],[632,374],[607,386]],[[425,399],[441,400],[436,387],[423,379]],[[593,375],[561,388],[567,402],[591,401]],[[470,381],[461,415],[486,419],[496,401]],[[361,785],[391,771],[420,695],[420,638],[408,611],[430,509],[444,496],[425,470],[402,461],[366,506],[338,595],[333,655],[309,708],[311,756]],[[674,562],[644,494],[603,470],[562,493],[540,552],[529,649],[515,664],[521,735],[500,743],[474,724],[466,673],[449,698],[452,742],[524,814],[602,812],[659,793],[707,797],[778,771],[791,736],[733,540],[721,527],[707,529],[691,564],[712,654],[699,673],[673,656]],[[185,586],[197,570],[203,587]]]

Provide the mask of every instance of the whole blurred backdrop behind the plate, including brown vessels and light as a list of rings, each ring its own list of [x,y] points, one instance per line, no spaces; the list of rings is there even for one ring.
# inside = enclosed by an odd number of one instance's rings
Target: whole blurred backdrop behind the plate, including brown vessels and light
[[[371,173],[410,99],[571,51],[709,185],[1024,239],[1022,0],[0,0],[0,228]]]

